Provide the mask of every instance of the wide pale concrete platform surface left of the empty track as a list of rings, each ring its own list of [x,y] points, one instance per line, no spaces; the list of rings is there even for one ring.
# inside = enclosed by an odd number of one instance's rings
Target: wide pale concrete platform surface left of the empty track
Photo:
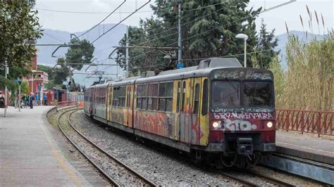
[[[0,186],[92,186],[64,157],[46,121],[48,106],[0,110]]]

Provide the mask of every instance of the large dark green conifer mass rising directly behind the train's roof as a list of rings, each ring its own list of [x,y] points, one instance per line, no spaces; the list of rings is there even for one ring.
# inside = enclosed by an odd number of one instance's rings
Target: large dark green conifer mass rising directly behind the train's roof
[[[181,17],[183,58],[231,56],[242,60],[243,56],[235,56],[235,54],[244,53],[243,41],[235,39],[238,33],[245,33],[249,36],[247,51],[252,52],[258,40],[254,20],[259,15],[261,8],[247,10],[247,4],[249,4],[249,0],[183,1]],[[147,41],[144,44],[147,46],[177,46],[177,4],[156,0],[156,6],[151,6],[151,8],[154,10],[155,16],[151,19],[141,20],[140,27],[131,28],[141,38],[137,39],[130,32],[130,44],[142,44],[142,40],[144,40]],[[132,37],[136,39],[132,40]],[[120,44],[124,45],[125,39]],[[140,53],[140,60],[132,59],[133,51]],[[140,67],[141,70],[147,70],[146,67],[151,69],[157,66],[168,67],[169,62],[163,59],[163,54],[142,54],[145,52],[148,51],[130,49],[130,65],[135,63],[135,67]],[[119,50],[118,63],[122,62],[120,59],[124,56],[125,50]],[[174,65],[175,62],[176,60],[174,60]],[[197,65],[198,62],[199,60],[185,61],[185,66]],[[252,66],[249,61],[248,66]]]

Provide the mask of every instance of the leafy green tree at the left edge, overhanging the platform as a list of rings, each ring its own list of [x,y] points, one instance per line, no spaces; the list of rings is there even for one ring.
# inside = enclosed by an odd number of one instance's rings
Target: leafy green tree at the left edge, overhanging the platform
[[[0,2],[0,88],[13,86],[13,79],[30,73],[36,49],[32,46],[42,36],[37,11],[31,8],[35,1]],[[4,80],[5,61],[9,67],[8,80]]]

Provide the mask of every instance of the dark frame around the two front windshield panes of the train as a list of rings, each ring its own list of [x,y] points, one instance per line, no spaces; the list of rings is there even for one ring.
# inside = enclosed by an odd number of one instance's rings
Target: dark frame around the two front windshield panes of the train
[[[212,108],[213,102],[213,94],[214,94],[214,82],[240,82],[240,106],[233,107],[224,107],[222,110],[241,110],[241,109],[257,109],[257,108],[266,108],[266,109],[274,109],[275,105],[275,90],[273,81],[271,79],[211,79],[210,83],[210,99],[209,99],[209,111],[215,112],[214,108]],[[271,105],[262,105],[262,106],[245,106],[244,102],[244,83],[245,82],[268,82],[271,86]]]

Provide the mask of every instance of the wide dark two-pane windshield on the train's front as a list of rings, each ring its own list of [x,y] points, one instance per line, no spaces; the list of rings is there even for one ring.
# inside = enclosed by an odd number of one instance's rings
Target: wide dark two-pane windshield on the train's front
[[[271,82],[266,81],[230,81],[212,82],[211,109],[252,108],[273,106]]]

